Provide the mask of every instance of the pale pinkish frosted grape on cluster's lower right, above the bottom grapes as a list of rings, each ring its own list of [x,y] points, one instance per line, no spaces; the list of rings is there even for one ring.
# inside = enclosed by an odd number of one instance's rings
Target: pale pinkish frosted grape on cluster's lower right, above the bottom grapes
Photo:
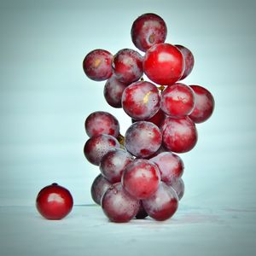
[[[177,154],[162,152],[150,160],[159,167],[161,180],[165,183],[172,183],[183,175],[183,160]]]

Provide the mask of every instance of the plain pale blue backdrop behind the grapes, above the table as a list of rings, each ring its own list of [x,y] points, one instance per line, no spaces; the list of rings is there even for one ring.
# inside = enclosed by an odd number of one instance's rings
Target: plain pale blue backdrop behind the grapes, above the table
[[[83,154],[84,119],[108,106],[104,82],[87,79],[91,49],[135,49],[133,20],[154,12],[166,20],[166,42],[195,55],[186,84],[212,91],[215,113],[198,125],[199,142],[182,154],[184,206],[255,209],[254,1],[0,1],[0,205],[32,206],[57,182],[75,204],[91,203],[99,173]]]

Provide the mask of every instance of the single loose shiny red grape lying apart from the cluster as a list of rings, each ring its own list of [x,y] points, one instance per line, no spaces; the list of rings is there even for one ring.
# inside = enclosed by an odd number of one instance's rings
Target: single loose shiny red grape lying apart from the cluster
[[[72,211],[73,197],[66,188],[52,183],[40,190],[36,206],[44,218],[61,219]]]

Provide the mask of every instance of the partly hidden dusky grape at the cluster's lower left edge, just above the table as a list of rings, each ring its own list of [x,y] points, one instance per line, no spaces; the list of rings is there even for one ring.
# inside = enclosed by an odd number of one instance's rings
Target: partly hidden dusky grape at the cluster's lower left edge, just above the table
[[[92,200],[95,201],[96,204],[101,205],[102,195],[110,186],[111,183],[103,177],[102,174],[99,174],[91,184],[90,195]]]

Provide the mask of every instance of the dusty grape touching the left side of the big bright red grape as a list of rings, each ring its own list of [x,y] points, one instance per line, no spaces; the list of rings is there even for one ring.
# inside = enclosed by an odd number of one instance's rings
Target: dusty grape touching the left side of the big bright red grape
[[[131,84],[143,76],[143,56],[134,49],[120,49],[113,56],[112,67],[120,82]]]

